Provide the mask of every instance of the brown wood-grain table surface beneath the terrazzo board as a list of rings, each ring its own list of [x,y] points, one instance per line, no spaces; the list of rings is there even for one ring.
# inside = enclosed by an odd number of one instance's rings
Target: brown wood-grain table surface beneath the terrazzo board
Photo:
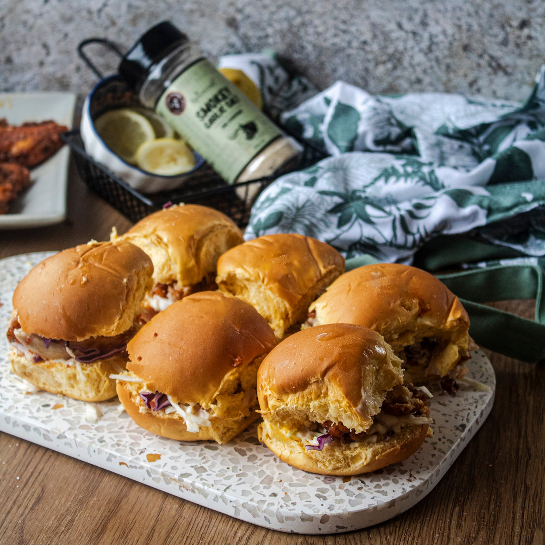
[[[123,233],[130,225],[87,191],[72,163],[68,219],[51,227],[0,231],[0,258],[107,240],[112,226]],[[533,316],[533,301],[498,306]],[[432,492],[385,523],[322,536],[268,530],[1,433],[0,544],[542,545],[543,362],[525,364],[487,355],[497,380],[492,413]]]

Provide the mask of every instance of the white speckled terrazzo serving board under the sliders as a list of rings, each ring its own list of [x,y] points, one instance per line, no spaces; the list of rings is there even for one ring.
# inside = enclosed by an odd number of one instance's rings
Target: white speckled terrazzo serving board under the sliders
[[[7,330],[19,280],[50,255],[0,261],[0,324]],[[184,500],[252,524],[298,534],[366,528],[408,510],[450,468],[488,416],[494,371],[477,351],[456,396],[433,390],[433,437],[407,460],[356,477],[314,475],[290,467],[259,443],[256,426],[227,445],[156,437],[135,425],[116,401],[85,403],[37,391],[10,370],[0,330],[0,429]]]

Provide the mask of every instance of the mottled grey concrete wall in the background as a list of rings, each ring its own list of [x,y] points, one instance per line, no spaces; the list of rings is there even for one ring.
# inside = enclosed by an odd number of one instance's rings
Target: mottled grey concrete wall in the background
[[[545,63],[543,0],[0,0],[0,91],[86,94],[96,77],[81,40],[125,51],[165,19],[211,58],[274,49],[319,88],[523,100]],[[87,51],[115,71],[116,57]]]

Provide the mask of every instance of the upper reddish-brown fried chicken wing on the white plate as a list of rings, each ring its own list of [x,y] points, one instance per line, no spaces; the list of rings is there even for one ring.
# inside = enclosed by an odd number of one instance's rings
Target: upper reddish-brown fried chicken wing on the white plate
[[[13,126],[0,119],[0,161],[14,161],[27,168],[39,165],[63,146],[60,135],[66,130],[54,121]]]

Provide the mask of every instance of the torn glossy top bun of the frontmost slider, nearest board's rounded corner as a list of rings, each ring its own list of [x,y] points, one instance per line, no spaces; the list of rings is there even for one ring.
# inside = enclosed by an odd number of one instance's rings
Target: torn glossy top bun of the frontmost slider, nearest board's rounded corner
[[[329,324],[278,344],[259,367],[257,394],[264,419],[275,426],[303,429],[331,420],[361,433],[386,392],[402,383],[401,360],[380,334]]]

